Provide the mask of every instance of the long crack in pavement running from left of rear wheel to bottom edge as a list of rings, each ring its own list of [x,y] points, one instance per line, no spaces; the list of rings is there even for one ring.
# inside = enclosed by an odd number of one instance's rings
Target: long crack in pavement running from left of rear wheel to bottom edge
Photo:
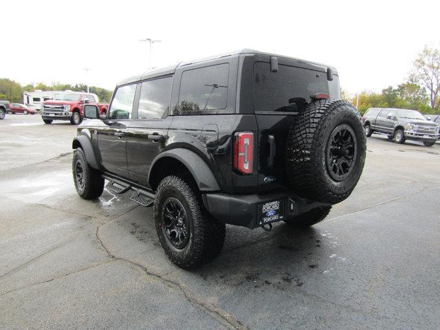
[[[104,225],[104,224],[109,224],[109,222],[102,223],[102,225]],[[217,307],[211,303],[208,303],[206,300],[203,300],[203,298],[201,298],[200,296],[197,296],[197,294],[191,292],[190,289],[188,289],[188,287],[186,287],[186,285],[183,285],[181,283],[173,281],[169,278],[165,278],[164,275],[157,274],[155,272],[151,272],[150,270],[148,270],[143,265],[140,265],[139,263],[135,263],[134,261],[130,261],[128,259],[124,259],[122,257],[118,257],[118,256],[115,256],[114,254],[112,254],[109,251],[109,249],[104,245],[102,240],[100,239],[100,236],[99,236],[100,226],[101,225],[98,225],[98,227],[96,228],[96,239],[97,239],[98,243],[100,243],[100,245],[102,246],[102,249],[105,252],[107,252],[109,259],[111,259],[113,261],[120,260],[120,261],[124,261],[126,263],[129,263],[131,265],[135,265],[136,267],[140,268],[140,270],[142,270],[142,272],[144,272],[148,276],[155,277],[155,278],[159,279],[159,281],[162,281],[162,283],[166,284],[168,287],[173,287],[175,289],[179,289],[184,294],[186,300],[188,300],[190,303],[194,303],[194,304],[198,305],[199,307],[201,307],[202,309],[205,309],[206,311],[209,311],[210,313],[216,314],[217,316],[219,316],[219,318],[221,318],[221,320],[223,320],[226,323],[228,323],[229,325],[231,325],[234,329],[240,329],[240,330],[248,330],[249,329],[248,327],[243,325],[239,320],[234,318],[234,316],[229,314],[227,311],[224,311],[223,309],[220,309],[219,307]]]

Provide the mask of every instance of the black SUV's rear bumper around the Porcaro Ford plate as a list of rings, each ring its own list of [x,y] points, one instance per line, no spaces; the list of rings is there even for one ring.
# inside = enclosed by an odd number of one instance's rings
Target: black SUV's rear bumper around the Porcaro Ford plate
[[[283,209],[282,216],[273,221],[263,223],[262,206],[265,203],[279,201]],[[265,223],[292,218],[328,205],[325,203],[301,199],[293,192],[283,191],[269,195],[232,195],[222,192],[203,194],[203,203],[213,217],[231,225],[240,225],[247,228],[257,228]]]

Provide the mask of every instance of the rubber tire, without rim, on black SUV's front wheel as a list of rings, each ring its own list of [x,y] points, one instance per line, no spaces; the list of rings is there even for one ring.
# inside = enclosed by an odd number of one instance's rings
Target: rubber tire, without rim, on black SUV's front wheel
[[[76,186],[76,177],[75,177],[75,166],[76,159],[81,159],[83,163],[84,170],[84,191],[80,192]],[[72,160],[72,173],[74,175],[74,183],[76,192],[83,199],[97,199],[102,195],[104,191],[104,178],[102,177],[99,170],[92,168],[89,163],[87,163],[87,158],[85,157],[85,153],[82,148],[76,148],[74,152],[74,157]]]

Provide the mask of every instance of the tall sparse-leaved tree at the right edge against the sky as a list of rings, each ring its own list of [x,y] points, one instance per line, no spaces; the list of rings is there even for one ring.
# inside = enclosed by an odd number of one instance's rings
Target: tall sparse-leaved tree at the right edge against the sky
[[[437,112],[440,106],[440,50],[425,46],[413,64],[410,80],[426,88],[430,106]]]

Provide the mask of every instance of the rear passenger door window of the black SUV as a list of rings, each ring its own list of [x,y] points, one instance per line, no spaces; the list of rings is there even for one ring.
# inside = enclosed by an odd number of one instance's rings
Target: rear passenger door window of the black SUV
[[[137,118],[158,119],[168,113],[172,82],[172,77],[165,77],[142,83]]]

